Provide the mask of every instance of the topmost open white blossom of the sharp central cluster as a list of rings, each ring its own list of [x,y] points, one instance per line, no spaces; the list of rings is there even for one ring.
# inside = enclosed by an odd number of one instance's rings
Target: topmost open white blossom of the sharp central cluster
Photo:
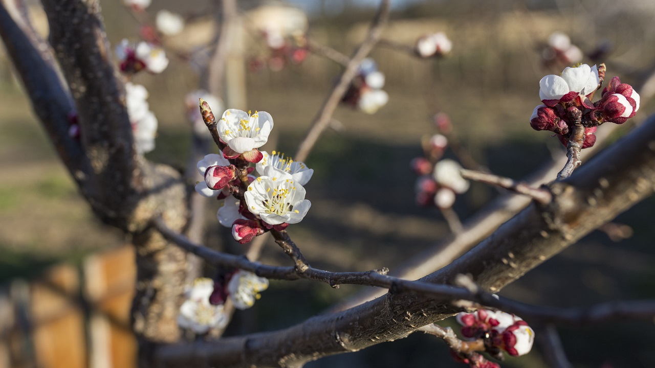
[[[273,118],[265,111],[252,115],[245,111],[229,109],[218,121],[218,135],[237,153],[252,151],[269,140]]]

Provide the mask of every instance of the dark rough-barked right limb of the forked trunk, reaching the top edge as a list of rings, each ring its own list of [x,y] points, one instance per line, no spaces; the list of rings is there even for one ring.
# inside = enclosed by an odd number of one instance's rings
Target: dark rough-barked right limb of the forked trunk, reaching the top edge
[[[136,206],[132,126],[115,78],[97,0],[44,0],[50,43],[77,106],[92,170],[81,189],[103,221],[126,229]]]

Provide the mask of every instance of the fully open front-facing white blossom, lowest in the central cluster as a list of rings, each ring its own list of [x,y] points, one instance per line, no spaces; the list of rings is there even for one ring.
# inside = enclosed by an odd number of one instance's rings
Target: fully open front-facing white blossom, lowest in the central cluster
[[[311,206],[305,199],[305,188],[287,172],[274,175],[260,176],[250,183],[244,194],[248,210],[269,225],[299,223]]]

